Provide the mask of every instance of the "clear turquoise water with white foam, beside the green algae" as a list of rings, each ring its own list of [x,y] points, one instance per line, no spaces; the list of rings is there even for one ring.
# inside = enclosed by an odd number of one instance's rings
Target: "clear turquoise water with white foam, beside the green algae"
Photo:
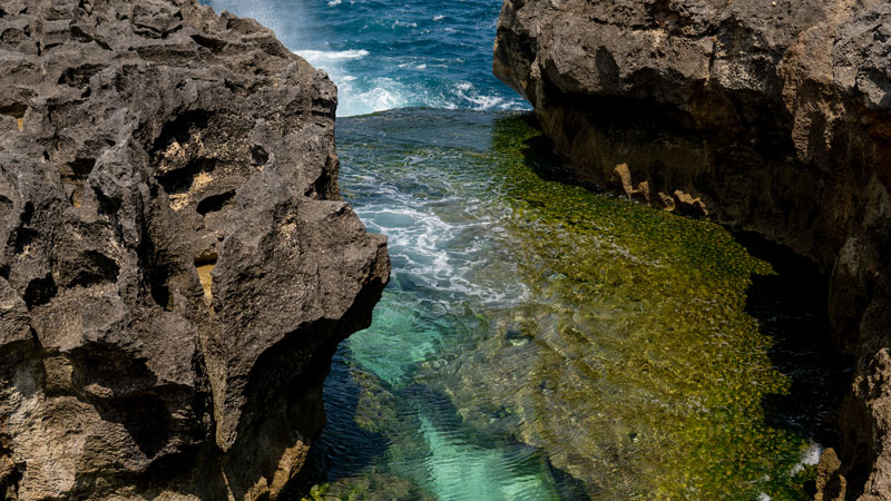
[[[339,120],[343,195],[369,230],[388,235],[394,268],[372,327],[344,343],[325,387],[331,424],[319,450],[346,492],[374,471],[413,487],[400,499],[561,499],[545,454],[464,426],[448,392],[423,381],[473,353],[491,334],[487,314],[527,293],[516,265],[499,258],[511,210],[492,198],[498,180],[482,157],[499,117],[407,110]],[[370,464],[344,464],[337,451],[356,444]]]

